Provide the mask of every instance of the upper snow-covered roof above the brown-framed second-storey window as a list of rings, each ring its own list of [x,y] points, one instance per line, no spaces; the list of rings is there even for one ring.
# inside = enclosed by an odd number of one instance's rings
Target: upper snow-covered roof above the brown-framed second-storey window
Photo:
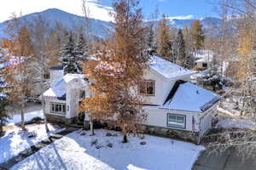
[[[182,66],[176,65],[155,55],[150,56],[150,59],[148,60],[148,66],[167,79],[194,74],[194,71],[185,69]]]

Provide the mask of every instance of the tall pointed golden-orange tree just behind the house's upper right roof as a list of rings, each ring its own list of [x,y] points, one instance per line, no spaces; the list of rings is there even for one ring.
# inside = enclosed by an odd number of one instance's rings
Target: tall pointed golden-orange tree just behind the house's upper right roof
[[[167,23],[166,15],[163,14],[158,27],[157,46],[160,57],[174,61],[172,55],[171,28]]]

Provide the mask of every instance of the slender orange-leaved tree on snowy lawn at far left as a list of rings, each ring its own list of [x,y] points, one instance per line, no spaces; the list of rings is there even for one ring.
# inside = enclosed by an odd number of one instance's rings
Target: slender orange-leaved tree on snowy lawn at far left
[[[8,49],[9,65],[4,68],[3,77],[9,85],[9,99],[20,106],[21,127],[25,129],[24,107],[35,77],[31,65],[34,55],[32,40],[27,27],[21,26],[16,17],[9,21],[7,33],[9,39],[3,44]]]

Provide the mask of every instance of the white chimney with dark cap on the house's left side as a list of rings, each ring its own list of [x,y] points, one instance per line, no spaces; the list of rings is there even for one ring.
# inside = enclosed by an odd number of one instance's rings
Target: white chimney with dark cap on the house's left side
[[[53,87],[56,82],[61,81],[64,77],[64,69],[62,65],[49,68],[49,85]]]

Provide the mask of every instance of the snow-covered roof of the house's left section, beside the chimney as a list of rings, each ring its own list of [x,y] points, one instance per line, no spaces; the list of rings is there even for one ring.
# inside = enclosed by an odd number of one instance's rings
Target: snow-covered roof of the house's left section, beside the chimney
[[[84,77],[85,75],[83,74],[67,74],[61,79],[60,82],[56,82],[52,88],[49,88],[46,92],[44,92],[43,96],[61,98],[67,94],[68,82],[71,82],[74,79],[79,79],[84,82]]]

